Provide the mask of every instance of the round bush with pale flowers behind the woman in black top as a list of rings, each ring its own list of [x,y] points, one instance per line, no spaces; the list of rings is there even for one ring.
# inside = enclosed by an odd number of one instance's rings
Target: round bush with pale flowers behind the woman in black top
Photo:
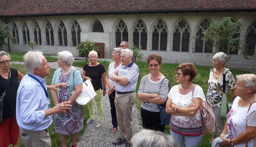
[[[90,51],[95,50],[98,52],[100,50],[91,40],[89,40],[89,38],[87,38],[86,41],[80,42],[76,48],[80,56],[86,56],[86,63],[88,62],[88,55]]]

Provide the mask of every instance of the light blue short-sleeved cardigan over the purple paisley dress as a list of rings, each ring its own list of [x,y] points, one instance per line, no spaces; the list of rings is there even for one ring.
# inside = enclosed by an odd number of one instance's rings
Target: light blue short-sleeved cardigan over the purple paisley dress
[[[52,81],[51,83],[54,83],[55,85],[56,84],[59,84],[59,77],[60,77],[60,70],[61,69],[57,69],[55,72],[54,72],[54,75],[52,77]],[[73,68],[71,70],[71,73],[70,73],[70,77],[69,77],[69,81],[68,81],[68,95],[69,97],[71,96],[70,92],[72,92],[73,90],[75,90],[75,85],[78,85],[78,84],[83,84],[83,80],[82,80],[82,77],[80,75],[80,71],[79,70],[76,70],[76,68]],[[73,72],[75,71],[75,74],[74,74],[74,77],[73,77]],[[58,98],[60,99],[60,93],[59,91],[56,91],[57,92],[57,95],[58,95]]]

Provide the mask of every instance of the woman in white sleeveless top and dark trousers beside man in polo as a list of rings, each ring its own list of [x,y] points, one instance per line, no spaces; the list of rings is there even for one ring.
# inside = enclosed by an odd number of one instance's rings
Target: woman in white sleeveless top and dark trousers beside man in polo
[[[111,112],[111,117],[112,117],[112,125],[113,128],[111,129],[111,133],[116,133],[117,131],[117,119],[116,119],[116,111],[115,111],[115,81],[112,81],[111,75],[114,73],[114,71],[118,68],[118,66],[122,63],[121,62],[121,50],[122,48],[114,48],[113,52],[111,54],[112,59],[115,60],[114,62],[109,64],[109,69],[107,71],[106,75],[106,84],[108,85],[107,90],[108,90],[108,95],[109,95],[109,102],[110,102],[110,112]]]

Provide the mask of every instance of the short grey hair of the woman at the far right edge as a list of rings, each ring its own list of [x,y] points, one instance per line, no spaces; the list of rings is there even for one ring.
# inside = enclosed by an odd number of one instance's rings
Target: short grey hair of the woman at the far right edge
[[[256,91],[256,75],[255,74],[240,74],[236,75],[237,81],[244,83],[245,87],[253,87],[252,92]]]

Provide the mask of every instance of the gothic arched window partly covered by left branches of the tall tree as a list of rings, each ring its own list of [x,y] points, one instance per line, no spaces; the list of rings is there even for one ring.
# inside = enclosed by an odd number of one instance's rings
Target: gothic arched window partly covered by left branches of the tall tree
[[[195,52],[212,52],[212,46],[210,42],[202,41],[202,38],[205,38],[205,35],[202,32],[206,32],[209,29],[210,22],[208,19],[202,21],[197,28],[196,32],[196,47]]]

